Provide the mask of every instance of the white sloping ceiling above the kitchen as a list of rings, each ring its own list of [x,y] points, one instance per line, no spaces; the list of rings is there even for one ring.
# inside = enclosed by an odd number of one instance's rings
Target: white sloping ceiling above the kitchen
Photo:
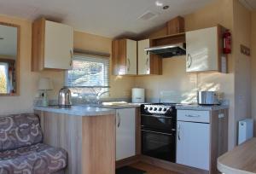
[[[163,25],[177,15],[189,14],[213,0],[159,0],[170,8],[155,6],[156,0],[0,0],[0,13],[28,20],[39,16],[60,20],[78,31],[115,38],[137,36]],[[151,11],[152,20],[138,19]]]

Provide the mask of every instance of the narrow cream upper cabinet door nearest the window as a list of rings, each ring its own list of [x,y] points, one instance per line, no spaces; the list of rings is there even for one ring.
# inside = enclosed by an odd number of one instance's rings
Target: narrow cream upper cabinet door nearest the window
[[[126,39],[126,74],[137,75],[137,41]]]

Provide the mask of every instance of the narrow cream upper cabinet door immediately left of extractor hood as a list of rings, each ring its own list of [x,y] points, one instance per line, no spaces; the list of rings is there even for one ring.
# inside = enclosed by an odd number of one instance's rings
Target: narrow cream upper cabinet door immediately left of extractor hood
[[[149,39],[137,42],[137,74],[149,74],[150,55],[144,49],[149,48]]]

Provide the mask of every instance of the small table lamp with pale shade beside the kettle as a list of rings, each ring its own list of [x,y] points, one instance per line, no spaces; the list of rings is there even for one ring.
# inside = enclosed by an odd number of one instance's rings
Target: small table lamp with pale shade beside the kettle
[[[47,96],[47,90],[53,90],[53,85],[52,82],[49,78],[40,78],[39,84],[38,84],[38,90],[44,90],[43,92],[43,102],[42,106],[43,107],[48,107],[49,106],[49,100]]]

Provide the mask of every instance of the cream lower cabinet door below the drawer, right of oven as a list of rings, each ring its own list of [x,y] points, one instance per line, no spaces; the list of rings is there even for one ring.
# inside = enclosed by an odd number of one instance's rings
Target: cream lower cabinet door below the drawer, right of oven
[[[209,124],[177,121],[176,162],[209,171],[209,135]]]

